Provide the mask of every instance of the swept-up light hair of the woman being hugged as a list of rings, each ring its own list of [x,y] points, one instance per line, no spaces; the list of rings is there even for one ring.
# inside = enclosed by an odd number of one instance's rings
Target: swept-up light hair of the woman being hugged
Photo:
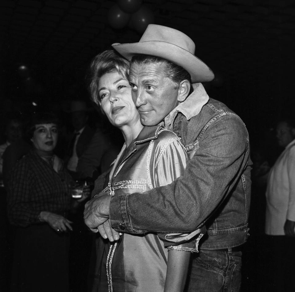
[[[130,62],[120,57],[120,55],[113,50],[106,50],[95,56],[91,61],[88,73],[89,76],[87,78],[92,101],[96,104],[100,102],[98,97],[98,83],[104,74],[117,71],[128,80],[129,67]]]

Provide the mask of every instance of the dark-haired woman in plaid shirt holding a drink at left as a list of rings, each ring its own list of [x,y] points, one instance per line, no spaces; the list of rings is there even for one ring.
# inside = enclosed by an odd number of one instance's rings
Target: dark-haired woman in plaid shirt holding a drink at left
[[[72,182],[54,155],[58,120],[37,114],[30,128],[32,151],[15,165],[9,180],[8,217],[17,226],[12,274],[13,291],[69,290],[68,252]],[[83,197],[89,194],[85,189]]]

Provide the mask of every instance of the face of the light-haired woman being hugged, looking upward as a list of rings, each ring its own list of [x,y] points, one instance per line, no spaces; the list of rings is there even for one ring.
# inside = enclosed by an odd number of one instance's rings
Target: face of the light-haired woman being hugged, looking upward
[[[115,127],[138,122],[139,114],[132,101],[131,86],[118,72],[104,74],[98,84],[101,109]]]

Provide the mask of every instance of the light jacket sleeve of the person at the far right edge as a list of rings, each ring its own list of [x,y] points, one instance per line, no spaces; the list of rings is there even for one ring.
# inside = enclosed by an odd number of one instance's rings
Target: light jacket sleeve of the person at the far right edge
[[[290,149],[287,172],[289,180],[289,202],[287,210],[287,219],[295,221],[295,146]]]

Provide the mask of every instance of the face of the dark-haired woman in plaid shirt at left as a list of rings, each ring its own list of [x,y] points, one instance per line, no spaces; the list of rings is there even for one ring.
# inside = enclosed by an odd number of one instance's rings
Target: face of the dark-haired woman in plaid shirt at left
[[[33,138],[31,141],[39,151],[52,152],[57,143],[58,131],[56,124],[35,125]]]

